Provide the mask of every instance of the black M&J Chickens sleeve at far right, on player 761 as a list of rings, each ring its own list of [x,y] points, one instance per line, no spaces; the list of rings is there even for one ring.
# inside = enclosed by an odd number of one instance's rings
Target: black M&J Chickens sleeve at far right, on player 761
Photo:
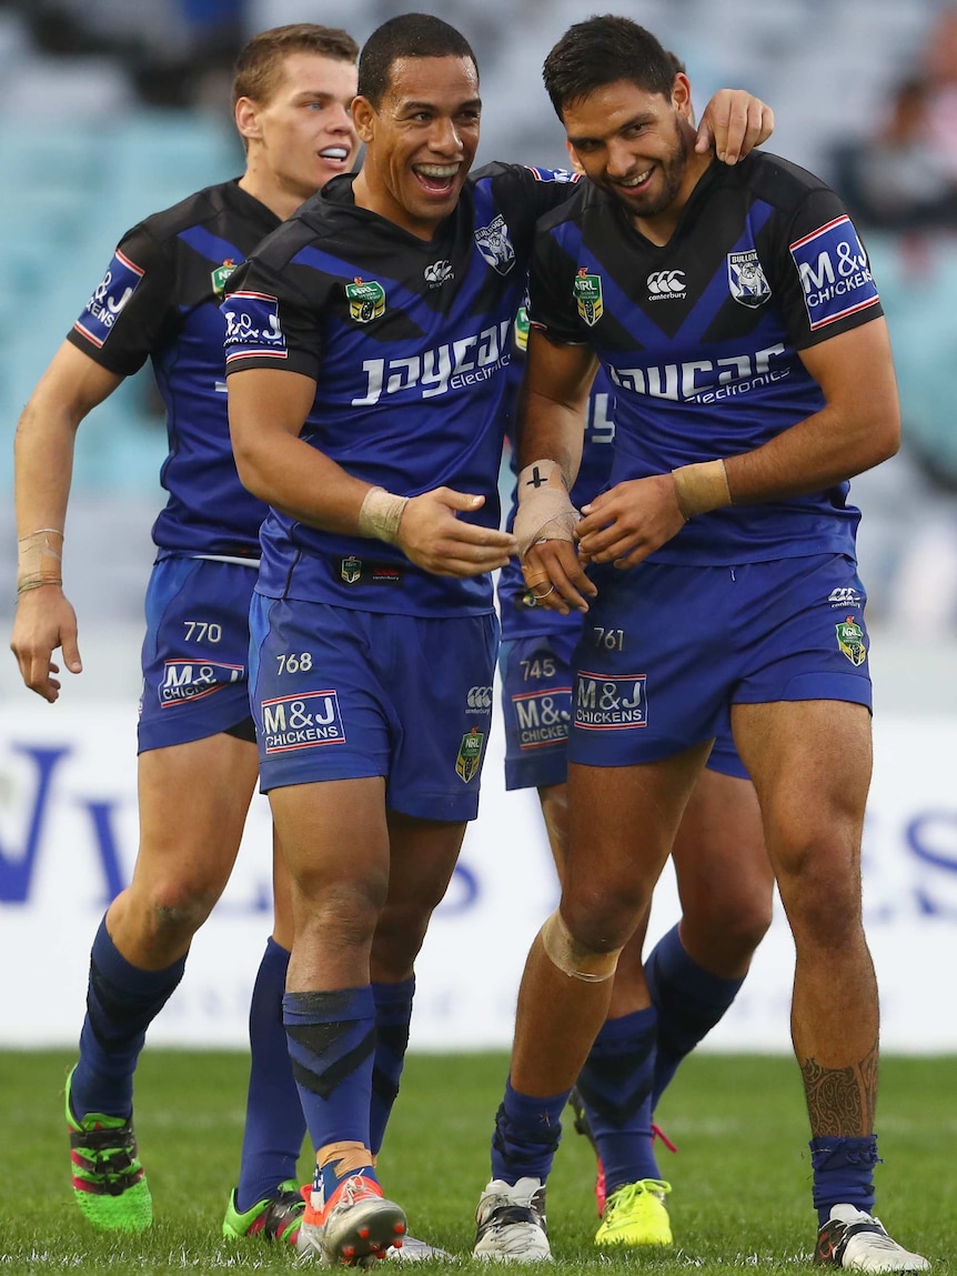
[[[796,350],[883,314],[868,254],[832,190],[809,191],[778,234],[773,287]]]

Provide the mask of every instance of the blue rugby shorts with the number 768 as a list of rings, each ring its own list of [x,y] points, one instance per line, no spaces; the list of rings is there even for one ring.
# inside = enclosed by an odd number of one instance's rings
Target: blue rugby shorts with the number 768
[[[250,630],[263,792],[384,776],[393,810],[475,819],[496,616],[425,619],[256,593]]]

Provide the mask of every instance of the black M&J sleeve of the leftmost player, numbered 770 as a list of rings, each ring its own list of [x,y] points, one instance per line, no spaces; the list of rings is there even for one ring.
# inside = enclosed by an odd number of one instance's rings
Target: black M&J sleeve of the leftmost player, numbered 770
[[[175,262],[140,223],[120,240],[66,339],[107,371],[130,376],[176,323]]]

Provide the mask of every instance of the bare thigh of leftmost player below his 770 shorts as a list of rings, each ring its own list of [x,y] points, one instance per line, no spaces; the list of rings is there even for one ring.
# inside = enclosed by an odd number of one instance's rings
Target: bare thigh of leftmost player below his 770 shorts
[[[255,780],[255,744],[222,731],[140,753],[134,884],[176,880],[218,894],[236,860]]]

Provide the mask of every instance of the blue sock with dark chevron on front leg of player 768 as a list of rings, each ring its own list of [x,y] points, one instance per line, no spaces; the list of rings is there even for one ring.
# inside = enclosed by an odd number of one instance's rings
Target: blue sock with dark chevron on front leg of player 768
[[[292,1074],[316,1152],[327,1143],[369,1147],[375,1002],[369,984],[330,993],[286,993],[282,1020]],[[323,1174],[327,1193],[338,1184]]]

